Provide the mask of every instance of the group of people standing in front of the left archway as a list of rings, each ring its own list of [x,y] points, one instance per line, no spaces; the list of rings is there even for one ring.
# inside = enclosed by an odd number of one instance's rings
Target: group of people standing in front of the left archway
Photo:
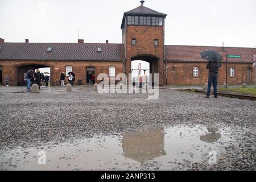
[[[49,81],[49,76],[44,76],[43,73],[40,73],[39,69],[32,68],[27,72],[26,75],[26,80],[27,80],[27,89],[30,90],[30,86],[32,84],[38,84],[39,89],[41,86],[44,86],[44,82],[46,86],[48,86],[48,81]]]

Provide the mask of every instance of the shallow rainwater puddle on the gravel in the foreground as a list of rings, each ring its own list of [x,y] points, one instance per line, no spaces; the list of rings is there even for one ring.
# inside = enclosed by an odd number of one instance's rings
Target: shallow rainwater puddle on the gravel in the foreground
[[[0,150],[1,170],[171,170],[208,163],[209,152],[221,152],[229,129],[174,126],[154,131],[94,136],[42,148]],[[39,151],[46,165],[38,164]],[[42,159],[42,158],[40,158]]]

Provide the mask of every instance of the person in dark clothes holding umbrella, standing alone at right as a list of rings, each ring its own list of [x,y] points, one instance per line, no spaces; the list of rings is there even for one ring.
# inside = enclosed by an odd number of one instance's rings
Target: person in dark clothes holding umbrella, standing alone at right
[[[210,88],[213,84],[213,93],[214,98],[218,98],[217,95],[217,84],[218,84],[218,68],[221,67],[220,61],[222,58],[221,54],[214,50],[207,50],[200,53],[203,59],[209,61],[207,64],[207,69],[209,69],[209,77],[208,77],[208,89],[207,96],[205,98],[210,97]]]

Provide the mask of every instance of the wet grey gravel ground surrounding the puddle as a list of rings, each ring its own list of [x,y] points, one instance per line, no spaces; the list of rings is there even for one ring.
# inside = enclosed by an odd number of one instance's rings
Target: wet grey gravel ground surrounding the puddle
[[[233,142],[224,146],[217,165],[195,163],[191,169],[256,169],[255,101],[207,99],[167,89],[160,89],[158,100],[146,98],[146,94],[97,92],[0,94],[0,149],[177,124],[218,125],[236,131]]]

